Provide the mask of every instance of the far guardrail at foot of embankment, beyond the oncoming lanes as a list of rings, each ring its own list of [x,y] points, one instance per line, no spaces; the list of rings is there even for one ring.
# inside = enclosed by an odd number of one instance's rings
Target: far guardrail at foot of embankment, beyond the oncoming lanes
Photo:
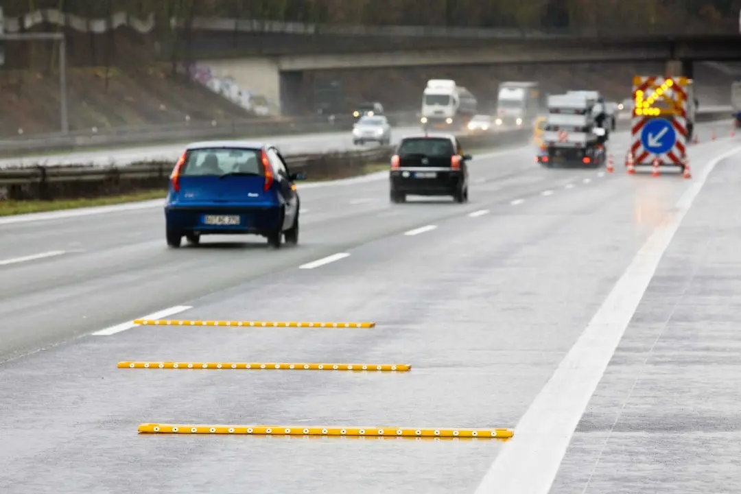
[[[394,126],[416,124],[416,112],[388,113]],[[126,144],[165,144],[213,138],[250,138],[290,136],[293,134],[342,132],[352,127],[351,115],[308,117],[296,119],[254,118],[222,121],[186,121],[144,127],[113,127],[110,129],[78,130],[65,134],[52,133],[28,137],[0,139],[0,156],[22,153],[73,151],[84,148],[110,147]]]

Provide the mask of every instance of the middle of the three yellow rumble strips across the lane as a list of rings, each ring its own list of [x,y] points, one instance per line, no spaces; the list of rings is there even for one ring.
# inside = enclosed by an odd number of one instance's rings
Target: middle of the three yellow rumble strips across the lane
[[[207,370],[344,370],[376,372],[409,372],[411,364],[310,364],[285,362],[149,362],[122,361],[119,369],[207,369]]]

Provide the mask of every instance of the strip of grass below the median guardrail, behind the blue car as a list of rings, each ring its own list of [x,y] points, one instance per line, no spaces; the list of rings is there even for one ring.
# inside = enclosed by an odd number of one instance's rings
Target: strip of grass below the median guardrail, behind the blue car
[[[358,176],[368,175],[387,170],[388,164],[369,164]],[[316,181],[329,181],[333,178]],[[307,180],[306,182],[315,182]],[[142,190],[141,192],[125,194],[122,196],[106,196],[82,199],[59,199],[58,201],[0,201],[0,216],[14,216],[28,213],[44,213],[47,211],[73,210],[81,207],[110,206],[112,204],[126,204],[129,202],[149,201],[151,199],[164,199],[167,196],[166,189]]]

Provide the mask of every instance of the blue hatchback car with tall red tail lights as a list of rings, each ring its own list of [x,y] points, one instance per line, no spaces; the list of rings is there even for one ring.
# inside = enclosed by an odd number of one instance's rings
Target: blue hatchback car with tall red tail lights
[[[299,241],[299,194],[279,150],[250,141],[190,144],[170,176],[165,204],[167,245],[185,236],[259,235],[272,247]]]

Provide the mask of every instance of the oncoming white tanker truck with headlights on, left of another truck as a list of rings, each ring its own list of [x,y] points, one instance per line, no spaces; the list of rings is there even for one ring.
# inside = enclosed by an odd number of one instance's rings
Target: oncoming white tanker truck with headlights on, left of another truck
[[[431,79],[422,93],[422,128],[463,130],[476,115],[478,102],[450,79]]]

